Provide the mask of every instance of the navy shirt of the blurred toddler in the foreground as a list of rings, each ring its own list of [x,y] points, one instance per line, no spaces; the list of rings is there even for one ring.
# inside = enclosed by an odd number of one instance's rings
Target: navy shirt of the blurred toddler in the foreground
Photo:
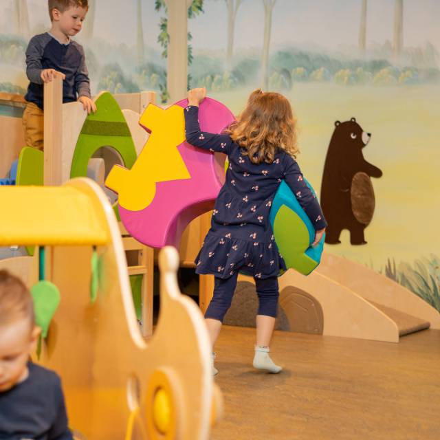
[[[60,378],[32,362],[28,369],[26,380],[0,392],[0,440],[73,440]]]

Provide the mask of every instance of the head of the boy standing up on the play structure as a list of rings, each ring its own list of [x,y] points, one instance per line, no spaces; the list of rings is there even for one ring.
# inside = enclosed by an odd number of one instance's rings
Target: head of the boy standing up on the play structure
[[[89,10],[89,0],[49,0],[52,28],[59,28],[67,36],[74,36],[83,28]]]

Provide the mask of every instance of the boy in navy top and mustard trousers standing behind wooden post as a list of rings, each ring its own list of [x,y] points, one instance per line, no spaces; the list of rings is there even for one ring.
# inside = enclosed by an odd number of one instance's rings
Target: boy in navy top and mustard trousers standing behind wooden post
[[[26,74],[30,80],[23,113],[25,142],[43,150],[43,83],[55,75],[63,78],[63,102],[78,100],[88,113],[96,111],[83,47],[71,37],[80,32],[89,9],[88,0],[49,0],[52,28],[34,36],[26,50]]]

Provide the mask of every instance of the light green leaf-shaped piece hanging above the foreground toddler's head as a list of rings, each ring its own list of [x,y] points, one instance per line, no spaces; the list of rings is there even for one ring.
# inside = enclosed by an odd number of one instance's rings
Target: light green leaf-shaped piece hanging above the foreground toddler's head
[[[41,328],[41,336],[47,338],[50,322],[61,301],[61,295],[56,285],[50,281],[39,281],[30,290],[34,300],[35,322]]]

